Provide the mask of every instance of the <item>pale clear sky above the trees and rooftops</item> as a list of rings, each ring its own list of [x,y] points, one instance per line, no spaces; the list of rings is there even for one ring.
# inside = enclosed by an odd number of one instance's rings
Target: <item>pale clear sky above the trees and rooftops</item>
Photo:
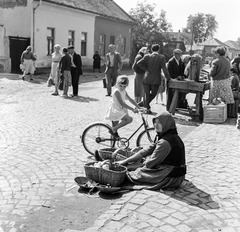
[[[114,0],[123,10],[129,13],[137,2],[143,0]],[[172,24],[174,32],[187,25],[188,16],[197,13],[212,14],[218,22],[214,38],[222,42],[237,41],[240,38],[240,0],[145,0],[157,5],[156,12],[166,11],[166,18]]]

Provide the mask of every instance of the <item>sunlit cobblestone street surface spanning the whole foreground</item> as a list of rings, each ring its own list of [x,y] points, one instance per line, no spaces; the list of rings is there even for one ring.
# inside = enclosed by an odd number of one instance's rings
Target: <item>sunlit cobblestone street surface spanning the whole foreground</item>
[[[77,188],[66,191],[91,159],[79,136],[88,124],[104,121],[111,100],[100,78],[93,80],[80,84],[79,98],[62,98],[51,95],[45,79],[0,77],[0,232],[240,231],[240,131],[234,119],[200,126],[177,121],[188,165],[179,190],[102,199],[104,210],[85,227],[72,222],[61,230],[47,224],[26,227],[34,212],[45,208],[51,213],[53,200],[67,204],[67,199],[81,197]],[[128,92],[133,96],[133,75]],[[164,108],[152,103],[154,112]],[[139,115],[131,115],[133,123],[120,134],[130,134],[140,124]]]

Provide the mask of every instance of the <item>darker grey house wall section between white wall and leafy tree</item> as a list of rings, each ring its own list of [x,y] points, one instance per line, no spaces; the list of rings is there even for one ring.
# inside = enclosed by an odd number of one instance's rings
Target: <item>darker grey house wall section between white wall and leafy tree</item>
[[[106,36],[105,53],[108,52],[110,36],[115,37],[116,51],[120,52],[123,60],[129,60],[132,44],[132,26],[121,22],[112,21],[96,17],[95,21],[95,44],[94,50],[99,51],[100,35]],[[126,48],[124,52],[124,38],[126,38]]]

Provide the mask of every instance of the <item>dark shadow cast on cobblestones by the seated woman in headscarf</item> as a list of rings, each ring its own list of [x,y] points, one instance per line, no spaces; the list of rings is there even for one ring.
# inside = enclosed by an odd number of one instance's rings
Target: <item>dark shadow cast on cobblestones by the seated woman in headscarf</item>
[[[171,191],[164,192],[169,195]],[[183,201],[191,206],[199,207],[204,210],[219,209],[219,204],[214,201],[210,194],[195,186],[192,182],[185,180],[183,186],[172,191],[172,198]]]

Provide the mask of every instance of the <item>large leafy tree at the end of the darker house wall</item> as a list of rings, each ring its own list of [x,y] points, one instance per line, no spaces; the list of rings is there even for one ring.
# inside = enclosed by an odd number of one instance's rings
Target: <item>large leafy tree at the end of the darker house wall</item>
[[[161,43],[167,37],[163,32],[172,31],[171,24],[166,20],[166,12],[161,10],[160,14],[156,13],[156,4],[148,4],[145,1],[138,2],[136,8],[132,8],[129,14],[136,21],[133,28],[131,60],[141,47],[152,43]],[[132,62],[130,61],[130,63]]]

